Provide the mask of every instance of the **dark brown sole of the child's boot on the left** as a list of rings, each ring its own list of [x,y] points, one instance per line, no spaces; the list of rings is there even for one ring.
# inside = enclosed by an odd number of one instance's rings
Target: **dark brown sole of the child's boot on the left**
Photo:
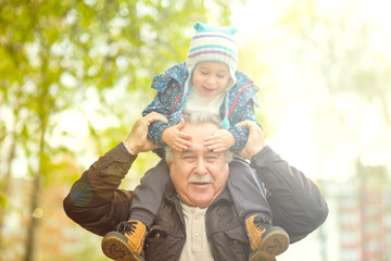
[[[144,261],[144,259],[135,253],[124,239],[116,235],[104,236],[102,240],[102,251],[108,257],[115,261]]]

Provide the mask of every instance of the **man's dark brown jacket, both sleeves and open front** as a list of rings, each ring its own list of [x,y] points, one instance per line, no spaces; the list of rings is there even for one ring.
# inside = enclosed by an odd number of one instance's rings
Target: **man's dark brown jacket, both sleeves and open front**
[[[96,161],[75,182],[64,199],[66,214],[84,228],[101,236],[115,229],[121,221],[129,216],[134,192],[118,189],[118,186],[135,159],[119,144]],[[288,232],[291,243],[304,238],[326,220],[328,207],[316,185],[269,147],[255,154],[251,165],[268,190],[274,224]],[[205,222],[215,260],[248,259],[249,241],[244,224],[228,190],[224,190],[209,207]],[[169,183],[146,241],[146,260],[178,260],[185,239],[181,206]]]

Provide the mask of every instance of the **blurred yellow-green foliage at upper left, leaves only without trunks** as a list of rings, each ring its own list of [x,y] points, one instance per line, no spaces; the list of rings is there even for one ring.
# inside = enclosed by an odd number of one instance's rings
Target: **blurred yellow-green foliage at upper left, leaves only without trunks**
[[[229,1],[212,4],[215,18],[227,23]],[[3,1],[1,97],[13,113],[12,122],[1,123],[2,137],[14,133],[27,157],[37,154],[62,112],[84,112],[91,89],[98,100],[90,102],[99,102],[103,117],[140,112],[146,101],[131,104],[133,97],[151,98],[153,75],[186,59],[192,24],[212,16],[206,8],[204,1]],[[131,105],[108,102],[105,90],[119,85]],[[51,149],[43,142],[45,153]]]

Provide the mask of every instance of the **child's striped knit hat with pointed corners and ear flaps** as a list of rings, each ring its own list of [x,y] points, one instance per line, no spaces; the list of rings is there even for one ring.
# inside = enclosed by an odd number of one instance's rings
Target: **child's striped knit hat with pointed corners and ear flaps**
[[[228,66],[229,74],[234,80],[234,86],[237,82],[235,72],[238,67],[238,42],[234,35],[236,28],[206,25],[201,22],[194,24],[197,30],[191,39],[189,53],[187,58],[187,67],[189,71],[189,78],[198,63],[205,61],[217,61],[225,63]]]

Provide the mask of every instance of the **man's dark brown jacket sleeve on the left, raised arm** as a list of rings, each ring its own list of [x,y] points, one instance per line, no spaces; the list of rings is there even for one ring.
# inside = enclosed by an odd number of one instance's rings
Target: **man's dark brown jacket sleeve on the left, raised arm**
[[[134,192],[118,189],[118,186],[135,159],[122,142],[99,158],[65,197],[66,215],[100,236],[128,220]]]

